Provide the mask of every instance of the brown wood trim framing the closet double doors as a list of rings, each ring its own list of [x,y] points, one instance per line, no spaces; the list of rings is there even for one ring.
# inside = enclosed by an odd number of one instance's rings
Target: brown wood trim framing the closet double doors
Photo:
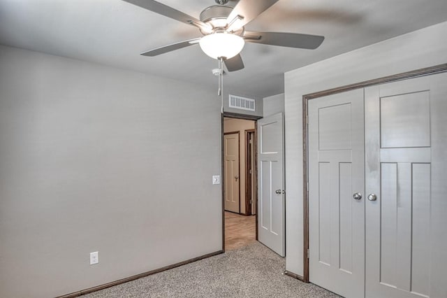
[[[372,80],[365,80],[360,83],[354,83],[351,85],[344,85],[341,87],[335,87],[328,90],[318,91],[302,96],[302,209],[303,209],[303,229],[304,229],[304,245],[303,245],[303,264],[304,271],[303,276],[293,274],[295,278],[300,279],[306,283],[309,283],[309,160],[308,160],[308,137],[309,132],[307,128],[308,123],[308,101],[312,99],[318,99],[319,97],[325,97],[332,94],[355,90],[359,88],[365,88],[373,85],[381,85],[384,83],[391,83],[398,80],[407,80],[409,78],[417,78],[420,76],[430,76],[435,73],[447,72],[447,64],[439,64],[436,66],[427,67],[424,69],[417,69],[415,71],[407,71],[404,73],[397,73],[392,76],[385,76],[383,78],[376,78]]]

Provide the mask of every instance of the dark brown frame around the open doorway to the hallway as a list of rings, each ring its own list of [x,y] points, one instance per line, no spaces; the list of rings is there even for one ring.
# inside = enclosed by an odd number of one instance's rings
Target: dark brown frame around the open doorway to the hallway
[[[255,116],[255,115],[243,115],[243,114],[237,114],[237,113],[228,113],[223,112],[221,113],[221,214],[222,214],[222,251],[225,252],[225,177],[224,177],[224,166],[225,166],[225,155],[223,152],[223,136],[225,133],[223,132],[223,118],[235,118],[235,119],[242,119],[242,120],[252,120],[254,121],[254,136],[255,139],[257,139],[258,136],[258,130],[257,130],[257,124],[258,120],[261,119],[261,116]],[[258,160],[258,148],[256,148],[255,144],[255,152],[254,152],[254,158]],[[258,166],[257,162],[254,166],[254,175],[256,177],[256,181],[258,180]],[[256,182],[256,240],[258,240],[258,183]],[[245,198],[247,200],[247,197]],[[247,204],[247,203],[246,203]],[[246,205],[247,206],[247,205]]]

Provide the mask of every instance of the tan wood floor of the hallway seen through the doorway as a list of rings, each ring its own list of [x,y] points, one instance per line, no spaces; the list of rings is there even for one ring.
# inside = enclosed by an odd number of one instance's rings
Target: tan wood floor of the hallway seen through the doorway
[[[225,250],[247,246],[256,241],[256,215],[225,211]]]

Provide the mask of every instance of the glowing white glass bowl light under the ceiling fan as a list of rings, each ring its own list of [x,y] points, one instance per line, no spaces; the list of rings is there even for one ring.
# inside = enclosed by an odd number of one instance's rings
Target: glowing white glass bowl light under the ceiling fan
[[[225,57],[230,59],[244,48],[244,38],[226,32],[216,32],[200,38],[200,48],[213,59]]]

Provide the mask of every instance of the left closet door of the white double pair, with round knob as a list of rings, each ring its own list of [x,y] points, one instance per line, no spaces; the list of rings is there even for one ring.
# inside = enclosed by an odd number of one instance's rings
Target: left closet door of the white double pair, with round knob
[[[309,100],[309,280],[365,295],[363,90]],[[355,198],[354,198],[355,197]]]

